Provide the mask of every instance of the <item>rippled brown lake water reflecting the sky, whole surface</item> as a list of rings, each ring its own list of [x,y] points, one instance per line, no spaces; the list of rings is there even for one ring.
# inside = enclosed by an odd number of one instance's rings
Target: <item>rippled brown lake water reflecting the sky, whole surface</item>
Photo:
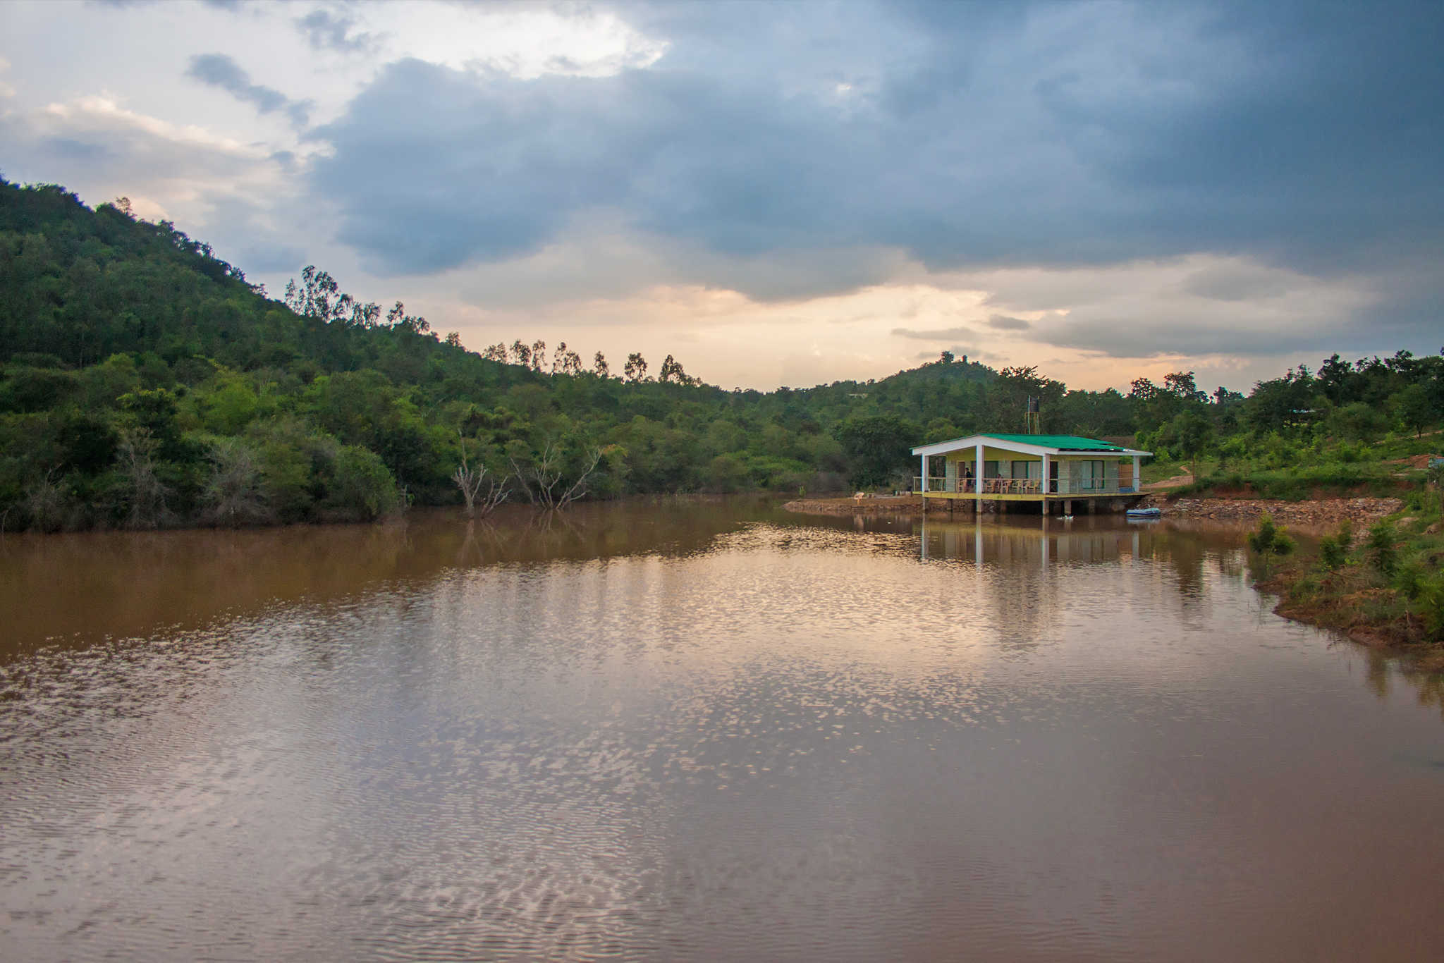
[[[1440,960],[1438,686],[1240,536],[0,540],[0,957]]]

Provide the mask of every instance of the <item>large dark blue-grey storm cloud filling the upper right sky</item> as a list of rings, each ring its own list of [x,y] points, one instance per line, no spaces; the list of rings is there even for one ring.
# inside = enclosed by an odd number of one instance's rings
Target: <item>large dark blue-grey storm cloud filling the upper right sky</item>
[[[341,240],[438,271],[606,209],[722,256],[696,280],[748,293],[745,264],[819,247],[933,270],[1203,251],[1324,276],[1444,248],[1437,3],[619,10],[671,43],[658,64],[380,71],[318,131]],[[1200,284],[1255,295],[1236,282]]]

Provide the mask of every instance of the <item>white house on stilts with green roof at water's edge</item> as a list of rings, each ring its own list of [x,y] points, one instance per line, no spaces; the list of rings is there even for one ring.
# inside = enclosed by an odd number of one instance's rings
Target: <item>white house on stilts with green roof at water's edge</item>
[[[923,458],[913,484],[923,511],[1009,511],[1022,502],[1064,515],[1132,507],[1144,497],[1139,465],[1152,455],[1076,435],[970,435],[913,453]]]

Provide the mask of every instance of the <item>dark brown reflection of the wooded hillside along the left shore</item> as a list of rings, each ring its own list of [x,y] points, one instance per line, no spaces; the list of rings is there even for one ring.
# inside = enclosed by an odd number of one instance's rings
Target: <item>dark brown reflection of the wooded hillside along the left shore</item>
[[[13,614],[0,657],[351,598],[456,567],[706,552],[765,514],[747,500],[648,498],[566,513],[517,505],[472,526],[459,510],[427,510],[365,526],[10,534],[0,539],[0,611]]]

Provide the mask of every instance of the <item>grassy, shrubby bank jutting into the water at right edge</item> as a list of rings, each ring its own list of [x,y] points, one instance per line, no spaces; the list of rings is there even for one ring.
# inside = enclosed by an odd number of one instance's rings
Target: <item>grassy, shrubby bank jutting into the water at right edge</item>
[[[1395,515],[1354,531],[1347,524],[1313,549],[1271,536],[1251,540],[1261,589],[1279,596],[1278,614],[1339,629],[1369,645],[1408,651],[1421,667],[1444,670],[1444,469],[1412,487]]]

